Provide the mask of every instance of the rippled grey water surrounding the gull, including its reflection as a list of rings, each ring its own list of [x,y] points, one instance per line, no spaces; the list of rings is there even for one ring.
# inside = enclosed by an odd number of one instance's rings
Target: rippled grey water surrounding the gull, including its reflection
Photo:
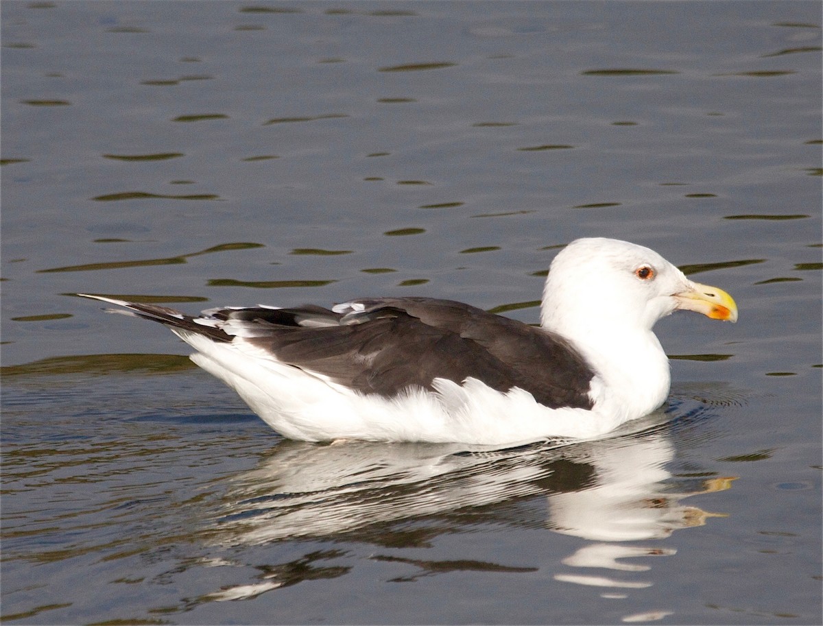
[[[816,2],[3,2],[8,624],[820,624]],[[537,320],[585,235],[723,287],[600,442],[283,440],[160,327]]]

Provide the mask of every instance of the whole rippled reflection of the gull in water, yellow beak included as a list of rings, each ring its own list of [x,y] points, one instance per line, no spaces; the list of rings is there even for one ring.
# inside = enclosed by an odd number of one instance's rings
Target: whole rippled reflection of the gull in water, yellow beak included
[[[703,524],[715,514],[683,500],[728,489],[733,480],[693,481],[677,490],[684,481],[667,471],[675,454],[670,420],[657,413],[607,439],[505,449],[283,441],[258,467],[235,476],[212,530],[222,545],[333,537],[402,548],[428,545],[469,523],[542,527],[586,540],[562,560],[569,569],[556,573],[557,581],[649,587],[652,582],[621,581],[602,570],[644,572],[649,566],[624,559],[675,554],[625,542],[661,540]],[[495,566],[473,568],[486,565]],[[588,574],[591,568],[597,575]]]

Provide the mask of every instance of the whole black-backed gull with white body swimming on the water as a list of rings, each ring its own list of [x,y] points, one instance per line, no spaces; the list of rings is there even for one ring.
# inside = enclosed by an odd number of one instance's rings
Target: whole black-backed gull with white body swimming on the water
[[[510,444],[593,438],[660,406],[668,361],[652,328],[678,308],[737,319],[732,298],[658,253],[578,239],[546,278],[540,328],[447,300],[216,308],[162,322],[195,363],[287,438]]]

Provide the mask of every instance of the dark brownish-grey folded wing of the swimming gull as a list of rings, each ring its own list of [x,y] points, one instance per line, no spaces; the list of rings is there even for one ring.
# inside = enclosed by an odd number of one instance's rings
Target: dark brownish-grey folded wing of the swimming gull
[[[395,395],[434,378],[477,378],[545,406],[592,407],[593,369],[559,336],[451,300],[385,298],[334,308],[338,327],[272,329],[249,339],[277,359],[365,393]]]

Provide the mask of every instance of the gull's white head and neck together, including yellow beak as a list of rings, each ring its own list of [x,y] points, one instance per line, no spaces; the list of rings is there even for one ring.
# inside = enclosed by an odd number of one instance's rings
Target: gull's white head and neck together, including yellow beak
[[[616,239],[577,239],[551,263],[541,322],[593,365],[589,396],[616,425],[666,399],[668,359],[652,327],[678,308],[737,320],[729,294],[690,281],[653,250]]]

